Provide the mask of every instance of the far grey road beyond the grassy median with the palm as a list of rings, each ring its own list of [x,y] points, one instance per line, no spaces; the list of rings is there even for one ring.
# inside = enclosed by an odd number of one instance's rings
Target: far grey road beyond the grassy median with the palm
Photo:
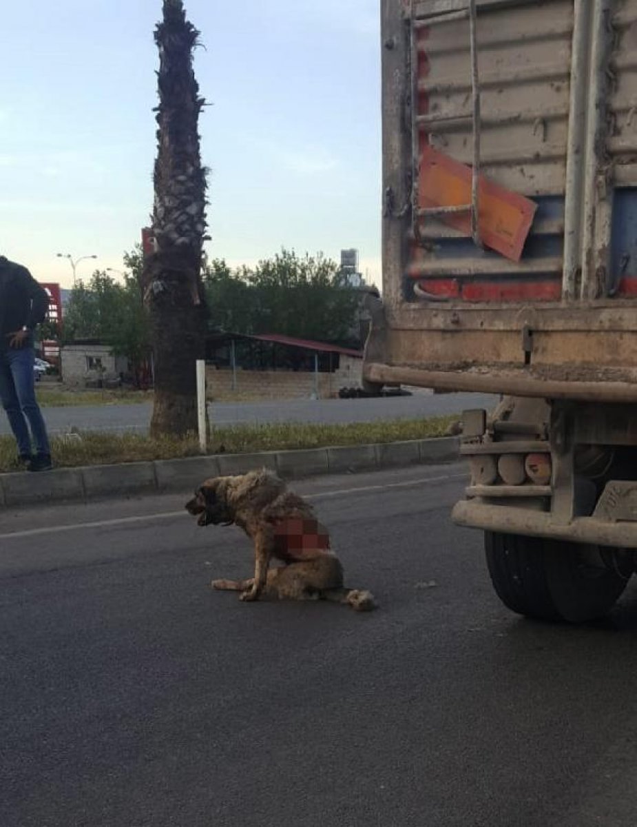
[[[281,402],[219,402],[210,405],[211,422],[218,426],[240,423],[375,422],[378,419],[417,419],[456,414],[466,408],[492,408],[497,401],[486,394],[414,394],[380,399],[292,399]],[[44,408],[50,433],[69,428],[91,431],[146,431],[150,404],[82,405]],[[11,433],[0,415],[0,434]]]

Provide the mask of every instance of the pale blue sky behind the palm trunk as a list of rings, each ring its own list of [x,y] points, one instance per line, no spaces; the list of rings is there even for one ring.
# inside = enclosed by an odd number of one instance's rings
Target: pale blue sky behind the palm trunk
[[[380,285],[378,0],[185,0],[211,257],[359,249]],[[40,281],[123,270],[153,203],[161,0],[21,0],[0,31],[0,255]]]

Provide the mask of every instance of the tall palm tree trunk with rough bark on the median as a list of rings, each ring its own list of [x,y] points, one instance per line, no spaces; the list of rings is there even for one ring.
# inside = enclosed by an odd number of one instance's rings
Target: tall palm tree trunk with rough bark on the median
[[[197,430],[195,362],[205,353],[207,318],[201,275],[207,170],[198,133],[205,101],[193,71],[198,37],[182,0],[164,0],[163,20],[154,31],[159,49],[154,252],[146,256],[142,275],[154,351],[153,436]]]

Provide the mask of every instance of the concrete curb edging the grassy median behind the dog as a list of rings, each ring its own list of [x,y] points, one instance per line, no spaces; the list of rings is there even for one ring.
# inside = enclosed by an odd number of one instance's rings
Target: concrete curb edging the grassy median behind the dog
[[[61,502],[88,502],[121,495],[181,492],[210,476],[243,474],[266,467],[298,479],[321,474],[374,471],[380,468],[449,462],[459,457],[458,437],[417,439],[375,445],[218,454],[181,460],[59,468],[41,474],[0,474],[0,509]]]

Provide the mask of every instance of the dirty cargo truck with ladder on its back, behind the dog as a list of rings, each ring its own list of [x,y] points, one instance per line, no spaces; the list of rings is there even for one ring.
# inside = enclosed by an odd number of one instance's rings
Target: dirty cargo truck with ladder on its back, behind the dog
[[[454,522],[512,611],[607,614],[637,565],[637,0],[382,0],[369,390],[462,414]]]

